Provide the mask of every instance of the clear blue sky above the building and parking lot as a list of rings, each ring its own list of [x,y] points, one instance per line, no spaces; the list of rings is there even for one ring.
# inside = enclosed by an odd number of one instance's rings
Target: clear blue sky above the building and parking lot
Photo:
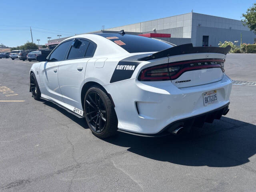
[[[23,45],[189,13],[241,20],[255,0],[1,0],[0,43]]]

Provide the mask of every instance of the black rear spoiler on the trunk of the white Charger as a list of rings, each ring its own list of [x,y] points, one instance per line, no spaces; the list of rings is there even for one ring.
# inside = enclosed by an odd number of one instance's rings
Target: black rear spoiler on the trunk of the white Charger
[[[227,54],[231,49],[231,46],[228,45],[225,48],[222,47],[193,47],[192,43],[183,44],[179,46],[174,46],[154,54],[151,54],[146,57],[139,58],[139,61],[147,61],[162,57],[174,56],[174,55],[182,55],[182,54],[193,54],[193,53],[221,53]]]

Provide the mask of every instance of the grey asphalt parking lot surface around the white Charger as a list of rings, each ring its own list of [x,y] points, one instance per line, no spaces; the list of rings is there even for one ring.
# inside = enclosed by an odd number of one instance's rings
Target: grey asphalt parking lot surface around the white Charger
[[[256,82],[255,62],[228,54],[224,68]],[[193,138],[102,140],[83,118],[31,97],[32,63],[0,60],[0,191],[256,191],[256,86],[233,85],[230,112]]]

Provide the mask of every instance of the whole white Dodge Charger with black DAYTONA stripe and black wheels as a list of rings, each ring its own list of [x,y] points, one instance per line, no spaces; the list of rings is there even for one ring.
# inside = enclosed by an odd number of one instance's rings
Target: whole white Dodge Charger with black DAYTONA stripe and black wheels
[[[189,132],[227,114],[230,46],[175,46],[125,34],[82,34],[61,42],[30,69],[34,99],[85,117],[99,138]]]

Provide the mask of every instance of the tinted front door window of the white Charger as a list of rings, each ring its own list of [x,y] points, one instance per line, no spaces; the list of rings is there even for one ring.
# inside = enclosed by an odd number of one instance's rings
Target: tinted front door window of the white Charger
[[[71,40],[60,44],[50,55],[49,61],[62,61],[66,56],[66,52],[71,44]]]

